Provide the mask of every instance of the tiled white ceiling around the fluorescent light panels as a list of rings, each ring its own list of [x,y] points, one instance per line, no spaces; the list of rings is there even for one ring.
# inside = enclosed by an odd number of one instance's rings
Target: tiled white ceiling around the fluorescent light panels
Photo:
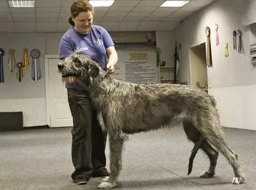
[[[95,7],[93,24],[108,31],[170,31],[215,0],[190,0],[182,8],[162,8],[165,0],[115,0]],[[36,0],[35,8],[10,8],[0,0],[0,32],[65,32],[74,0]]]

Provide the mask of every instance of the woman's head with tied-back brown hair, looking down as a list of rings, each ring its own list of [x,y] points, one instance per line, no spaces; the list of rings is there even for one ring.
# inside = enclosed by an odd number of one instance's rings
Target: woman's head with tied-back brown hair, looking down
[[[93,6],[86,0],[79,0],[70,7],[71,17],[68,22],[79,33],[88,33],[93,22]]]

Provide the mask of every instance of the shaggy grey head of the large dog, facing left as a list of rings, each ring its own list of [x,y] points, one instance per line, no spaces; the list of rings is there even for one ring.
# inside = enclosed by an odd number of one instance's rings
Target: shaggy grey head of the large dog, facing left
[[[99,75],[100,67],[90,56],[74,53],[58,64],[58,72],[63,81],[71,76],[77,82],[88,84]]]

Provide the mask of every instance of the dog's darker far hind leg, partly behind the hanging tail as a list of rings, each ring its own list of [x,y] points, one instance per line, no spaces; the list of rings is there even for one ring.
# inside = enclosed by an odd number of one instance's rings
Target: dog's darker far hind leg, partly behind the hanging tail
[[[200,141],[200,138],[202,138],[202,134],[198,131],[198,129],[196,129],[193,123],[184,120],[183,128],[184,128],[184,132],[188,136],[188,139],[190,141],[193,141],[195,145],[196,143],[198,143],[198,141]],[[202,178],[213,177],[215,174],[215,168],[216,168],[219,153],[216,150],[216,148],[214,148],[214,146],[212,146],[205,138],[202,140],[202,143],[200,144],[200,148],[205,152],[205,154],[209,157],[209,160],[210,160],[209,170],[205,171],[200,177]],[[192,171],[192,168],[191,168],[191,171]]]

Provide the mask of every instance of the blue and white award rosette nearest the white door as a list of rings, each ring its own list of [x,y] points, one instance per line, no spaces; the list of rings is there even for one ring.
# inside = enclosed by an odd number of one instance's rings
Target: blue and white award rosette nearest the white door
[[[33,81],[38,81],[42,78],[39,62],[40,51],[38,49],[33,49],[30,52],[30,56],[32,58],[31,78]]]

